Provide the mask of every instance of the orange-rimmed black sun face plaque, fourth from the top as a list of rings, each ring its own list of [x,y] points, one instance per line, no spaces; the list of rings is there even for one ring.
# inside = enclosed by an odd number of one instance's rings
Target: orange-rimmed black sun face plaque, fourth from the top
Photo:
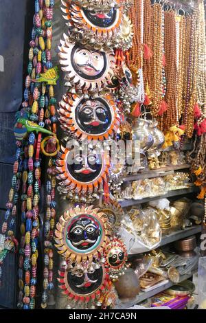
[[[109,169],[103,150],[95,149],[92,145],[85,152],[76,147],[61,149],[62,153],[58,154],[60,159],[56,161],[60,186],[83,194],[102,187]]]

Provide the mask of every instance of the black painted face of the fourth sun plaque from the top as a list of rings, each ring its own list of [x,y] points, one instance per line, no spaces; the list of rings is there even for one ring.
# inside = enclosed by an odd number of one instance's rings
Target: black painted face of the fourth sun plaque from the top
[[[102,157],[92,150],[88,155],[82,151],[71,151],[67,157],[67,170],[77,181],[93,181],[102,170]]]

